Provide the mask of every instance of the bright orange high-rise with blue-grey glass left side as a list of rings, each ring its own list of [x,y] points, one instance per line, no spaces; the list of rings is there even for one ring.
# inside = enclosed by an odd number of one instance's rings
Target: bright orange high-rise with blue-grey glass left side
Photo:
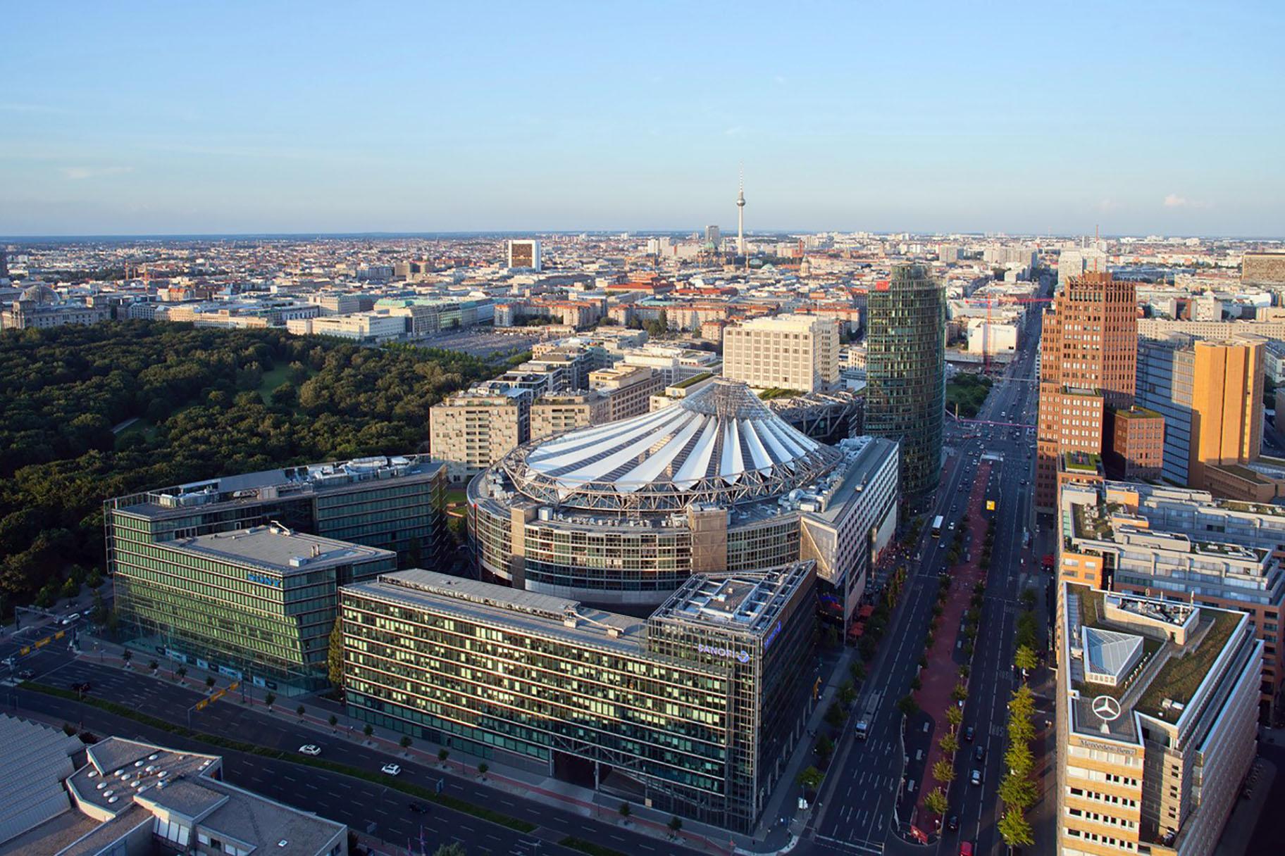
[[[1137,402],[1164,416],[1167,480],[1213,490],[1218,470],[1258,459],[1264,348],[1254,336],[1139,341]]]

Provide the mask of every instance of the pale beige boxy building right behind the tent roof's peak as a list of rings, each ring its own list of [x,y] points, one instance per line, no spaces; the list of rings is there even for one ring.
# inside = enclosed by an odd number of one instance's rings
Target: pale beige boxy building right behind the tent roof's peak
[[[785,314],[729,326],[723,377],[756,389],[831,389],[839,380],[839,325],[833,318]]]

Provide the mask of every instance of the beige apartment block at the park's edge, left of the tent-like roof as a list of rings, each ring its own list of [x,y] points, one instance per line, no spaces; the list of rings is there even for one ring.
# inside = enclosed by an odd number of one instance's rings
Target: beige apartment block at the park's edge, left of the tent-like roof
[[[529,438],[528,390],[468,390],[434,404],[428,415],[432,456],[451,481],[464,481]]]

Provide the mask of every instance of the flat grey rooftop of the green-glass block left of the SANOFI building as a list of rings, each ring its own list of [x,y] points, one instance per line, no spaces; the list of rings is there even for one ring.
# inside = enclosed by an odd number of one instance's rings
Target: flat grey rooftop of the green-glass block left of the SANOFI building
[[[397,557],[387,549],[308,535],[278,525],[197,535],[166,542],[161,547],[238,565],[253,565],[281,575]]]

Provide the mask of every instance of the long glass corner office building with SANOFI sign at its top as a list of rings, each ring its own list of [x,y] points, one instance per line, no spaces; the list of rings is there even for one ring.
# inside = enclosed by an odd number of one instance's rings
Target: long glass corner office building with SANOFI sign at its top
[[[341,592],[351,715],[753,829],[803,733],[813,562],[691,576],[649,619],[423,570]]]

